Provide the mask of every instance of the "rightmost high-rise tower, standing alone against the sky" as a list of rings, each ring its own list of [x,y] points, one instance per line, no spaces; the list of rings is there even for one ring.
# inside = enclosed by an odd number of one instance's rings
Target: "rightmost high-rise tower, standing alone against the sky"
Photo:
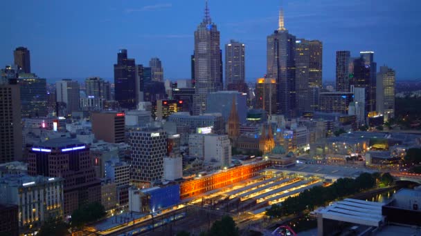
[[[387,119],[395,117],[395,81],[395,70],[380,66],[376,82],[376,110]]]

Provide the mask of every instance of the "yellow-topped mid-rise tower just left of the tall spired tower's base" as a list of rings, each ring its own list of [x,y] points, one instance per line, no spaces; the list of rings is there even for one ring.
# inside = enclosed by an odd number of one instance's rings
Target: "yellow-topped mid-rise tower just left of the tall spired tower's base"
[[[269,114],[276,114],[277,106],[276,79],[259,78],[256,81],[256,108],[265,110]]]

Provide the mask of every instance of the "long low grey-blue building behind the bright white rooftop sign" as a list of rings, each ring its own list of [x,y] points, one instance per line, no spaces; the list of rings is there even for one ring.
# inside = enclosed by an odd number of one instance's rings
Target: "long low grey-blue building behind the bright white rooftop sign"
[[[188,112],[172,113],[168,117],[168,121],[172,121],[177,126],[188,126],[190,133],[197,132],[197,128],[211,127],[215,133],[224,133],[224,117],[221,113],[205,113],[204,115],[192,116]],[[181,133],[178,132],[177,133]]]

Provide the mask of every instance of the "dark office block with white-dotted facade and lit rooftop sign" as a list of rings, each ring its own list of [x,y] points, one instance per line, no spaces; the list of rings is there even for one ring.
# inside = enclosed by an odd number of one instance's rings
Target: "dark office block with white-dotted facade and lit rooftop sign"
[[[163,179],[163,157],[167,151],[167,134],[163,130],[132,131],[130,176],[138,188],[148,188]]]

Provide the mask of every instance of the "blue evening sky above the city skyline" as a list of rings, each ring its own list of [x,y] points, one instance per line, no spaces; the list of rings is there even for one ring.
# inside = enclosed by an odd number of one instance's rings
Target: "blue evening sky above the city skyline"
[[[3,4],[5,5],[5,4]],[[334,80],[335,51],[375,51],[398,79],[420,78],[421,1],[283,1],[285,27],[297,38],[323,41],[323,79]],[[266,37],[278,26],[280,1],[210,0],[212,20],[229,39],[246,44],[246,77],[266,71]],[[163,61],[165,79],[190,78],[193,32],[204,0],[21,1],[0,14],[0,66],[17,46],[29,48],[31,70],[47,79],[114,77],[120,48],[136,63]]]

